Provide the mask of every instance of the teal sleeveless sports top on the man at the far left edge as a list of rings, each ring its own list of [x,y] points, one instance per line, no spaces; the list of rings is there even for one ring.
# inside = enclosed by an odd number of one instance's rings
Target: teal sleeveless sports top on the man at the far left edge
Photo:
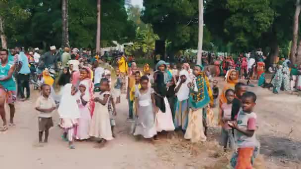
[[[5,66],[0,65],[0,79],[8,76],[8,72],[11,67],[12,67],[11,63],[7,63]],[[16,90],[16,82],[13,76],[7,81],[0,81],[0,84],[9,91]]]

